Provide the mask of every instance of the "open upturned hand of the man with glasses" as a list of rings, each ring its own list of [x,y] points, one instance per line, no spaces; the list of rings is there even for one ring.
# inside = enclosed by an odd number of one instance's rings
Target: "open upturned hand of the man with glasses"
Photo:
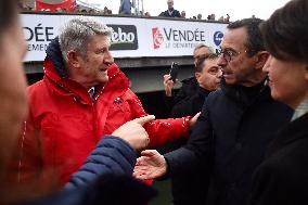
[[[167,172],[167,163],[156,150],[141,152],[133,169],[133,177],[140,180],[155,179]]]

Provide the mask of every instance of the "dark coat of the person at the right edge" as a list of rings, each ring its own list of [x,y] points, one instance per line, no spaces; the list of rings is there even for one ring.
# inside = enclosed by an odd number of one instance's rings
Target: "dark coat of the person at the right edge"
[[[308,204],[308,114],[295,119],[271,143],[258,167],[249,205]]]

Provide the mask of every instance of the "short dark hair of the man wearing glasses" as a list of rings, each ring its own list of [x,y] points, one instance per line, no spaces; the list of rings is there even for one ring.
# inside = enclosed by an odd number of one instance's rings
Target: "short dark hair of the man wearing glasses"
[[[227,26],[228,29],[246,27],[246,29],[247,29],[247,42],[246,42],[245,46],[247,48],[247,53],[248,53],[249,56],[253,56],[257,52],[265,50],[262,35],[261,35],[261,31],[259,29],[259,25],[262,22],[264,21],[260,20],[260,18],[251,17],[251,18],[244,18],[244,20],[240,20],[240,21],[230,23]]]

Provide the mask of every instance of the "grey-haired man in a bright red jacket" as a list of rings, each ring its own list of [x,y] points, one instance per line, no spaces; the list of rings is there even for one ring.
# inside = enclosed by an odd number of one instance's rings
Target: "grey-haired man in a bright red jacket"
[[[48,47],[43,79],[28,88],[29,114],[13,161],[18,181],[48,172],[67,182],[102,136],[147,115],[114,64],[111,34],[99,22],[74,18]],[[188,136],[190,123],[145,124],[150,146]]]

